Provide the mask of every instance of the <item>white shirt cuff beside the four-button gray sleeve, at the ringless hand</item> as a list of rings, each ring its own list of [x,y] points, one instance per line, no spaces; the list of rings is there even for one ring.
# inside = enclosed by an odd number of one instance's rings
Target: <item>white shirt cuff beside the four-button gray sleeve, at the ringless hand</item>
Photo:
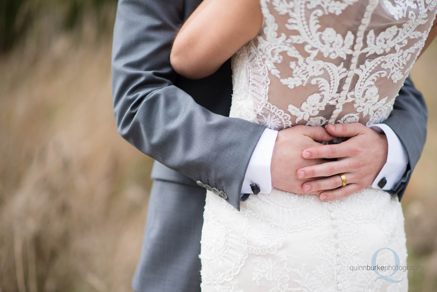
[[[257,184],[261,193],[268,194],[271,192],[270,165],[277,132],[266,128],[261,134],[247,166],[243,186],[241,187],[242,194],[253,194],[250,184]]]

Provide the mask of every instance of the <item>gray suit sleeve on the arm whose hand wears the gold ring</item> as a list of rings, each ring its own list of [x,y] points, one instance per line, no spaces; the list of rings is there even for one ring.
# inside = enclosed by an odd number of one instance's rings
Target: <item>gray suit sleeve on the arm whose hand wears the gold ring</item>
[[[398,194],[401,200],[405,188],[422,154],[427,136],[428,109],[423,95],[414,87],[408,76],[396,97],[392,113],[383,122],[392,128],[405,146],[408,154],[408,165],[402,179],[388,191]]]

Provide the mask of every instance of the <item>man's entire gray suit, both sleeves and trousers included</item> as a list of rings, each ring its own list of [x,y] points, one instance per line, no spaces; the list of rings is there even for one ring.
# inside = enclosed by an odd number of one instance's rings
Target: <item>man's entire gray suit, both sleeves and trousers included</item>
[[[175,31],[200,0],[119,0],[112,52],[118,132],[156,163],[135,291],[200,291],[200,229],[205,189],[216,186],[239,210],[246,168],[264,126],[229,118],[229,60],[188,80],[170,66]],[[392,189],[399,200],[422,153],[427,107],[408,78],[384,122],[399,136],[408,167]],[[158,183],[159,182],[159,183]],[[171,201],[171,202],[170,202]]]

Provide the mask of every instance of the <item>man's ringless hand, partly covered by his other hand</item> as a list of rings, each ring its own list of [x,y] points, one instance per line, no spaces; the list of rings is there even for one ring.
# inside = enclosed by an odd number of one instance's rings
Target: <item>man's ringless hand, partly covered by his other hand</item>
[[[307,160],[303,150],[320,146],[316,141],[334,139],[323,127],[296,125],[278,132],[271,160],[272,187],[296,194],[302,193],[302,179],[296,177],[299,168],[320,164],[323,159]],[[309,180],[314,180],[310,178]]]

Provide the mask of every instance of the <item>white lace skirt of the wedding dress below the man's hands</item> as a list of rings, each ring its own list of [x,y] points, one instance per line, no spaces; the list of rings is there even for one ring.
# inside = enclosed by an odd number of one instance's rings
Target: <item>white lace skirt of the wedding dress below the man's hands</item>
[[[389,278],[402,281],[392,283],[362,270],[386,247],[406,265],[402,207],[385,191],[365,188],[326,202],[274,188],[250,195],[240,212],[207,191],[201,291],[407,292],[407,271],[396,271]],[[378,252],[376,264],[395,261],[392,251]]]

